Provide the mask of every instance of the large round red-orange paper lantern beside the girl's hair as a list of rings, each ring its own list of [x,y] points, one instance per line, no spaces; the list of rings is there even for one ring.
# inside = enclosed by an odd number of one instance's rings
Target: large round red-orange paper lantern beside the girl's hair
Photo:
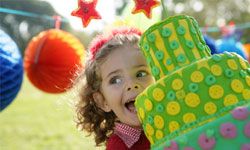
[[[50,29],[29,42],[24,68],[37,88],[48,93],[61,93],[71,87],[84,56],[84,46],[76,37],[59,29]]]

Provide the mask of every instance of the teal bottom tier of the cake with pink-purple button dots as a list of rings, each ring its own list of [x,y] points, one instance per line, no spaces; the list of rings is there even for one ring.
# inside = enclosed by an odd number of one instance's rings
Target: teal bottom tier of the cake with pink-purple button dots
[[[158,150],[250,150],[250,103],[171,140],[151,146]]]

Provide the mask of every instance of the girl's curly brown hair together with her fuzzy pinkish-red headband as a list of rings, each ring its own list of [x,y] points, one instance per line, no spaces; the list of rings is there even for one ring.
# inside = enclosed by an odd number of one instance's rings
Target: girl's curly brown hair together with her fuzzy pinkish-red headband
[[[109,53],[124,45],[138,44],[141,33],[135,28],[113,30],[108,36],[98,36],[89,47],[90,54],[82,72],[75,80],[79,100],[76,104],[76,123],[81,130],[94,133],[96,145],[105,142],[113,132],[116,115],[100,109],[94,101],[93,93],[100,90],[102,82],[100,65]]]

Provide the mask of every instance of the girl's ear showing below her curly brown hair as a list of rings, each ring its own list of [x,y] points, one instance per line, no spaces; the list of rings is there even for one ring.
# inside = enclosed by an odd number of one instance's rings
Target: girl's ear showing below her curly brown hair
[[[93,98],[95,103],[99,108],[101,108],[105,112],[110,112],[111,108],[109,107],[107,101],[105,100],[104,96],[100,92],[93,93]]]

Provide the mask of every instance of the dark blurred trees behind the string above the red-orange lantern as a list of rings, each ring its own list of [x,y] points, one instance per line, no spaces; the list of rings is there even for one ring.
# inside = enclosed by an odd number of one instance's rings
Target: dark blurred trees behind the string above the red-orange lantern
[[[55,20],[45,19],[45,16],[59,15],[48,2],[40,0],[1,0],[0,7],[40,15],[28,17],[0,12],[0,29],[12,37],[22,54],[32,37],[41,31],[55,28]],[[62,22],[61,29],[78,37],[84,45],[87,44],[87,35],[74,31],[68,22]]]

